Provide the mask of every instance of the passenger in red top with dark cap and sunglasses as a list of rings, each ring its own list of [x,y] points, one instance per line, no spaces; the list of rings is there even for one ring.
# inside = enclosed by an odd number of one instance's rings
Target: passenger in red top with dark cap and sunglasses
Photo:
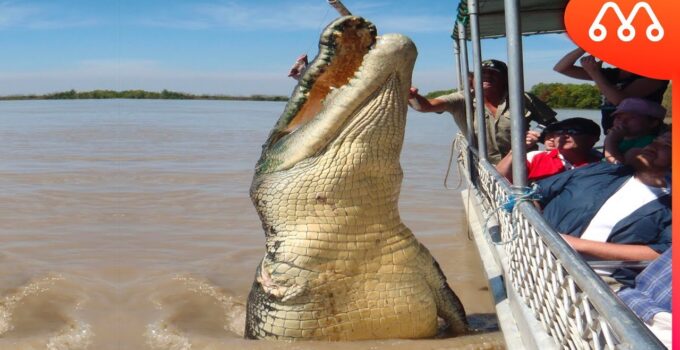
[[[549,128],[549,129],[548,129]],[[569,118],[553,123],[546,130],[559,135],[557,148],[527,153],[527,179],[537,181],[548,176],[597,162],[593,146],[600,139],[600,126],[585,118]],[[512,182],[512,153],[508,153],[496,170]]]

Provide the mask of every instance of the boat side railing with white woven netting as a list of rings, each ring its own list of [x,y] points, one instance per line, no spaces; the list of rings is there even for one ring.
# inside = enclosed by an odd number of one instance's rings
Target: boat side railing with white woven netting
[[[530,196],[517,198],[516,189],[493,165],[470,152],[463,135],[459,134],[455,143],[460,173],[482,198],[486,240],[505,253],[502,265],[506,289],[512,288],[519,295],[558,347],[663,348],[607,283],[550,227]]]

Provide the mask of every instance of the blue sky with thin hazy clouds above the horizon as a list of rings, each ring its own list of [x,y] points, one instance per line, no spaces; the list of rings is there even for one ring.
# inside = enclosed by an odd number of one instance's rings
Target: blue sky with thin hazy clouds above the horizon
[[[418,48],[413,85],[454,88],[451,28],[458,0],[343,0],[378,33]],[[326,0],[0,0],[0,95],[75,89],[163,89],[289,95],[295,59],[317,53],[336,18]],[[576,82],[552,71],[574,45],[564,34],[526,37],[525,86]],[[484,58],[506,60],[505,40]]]

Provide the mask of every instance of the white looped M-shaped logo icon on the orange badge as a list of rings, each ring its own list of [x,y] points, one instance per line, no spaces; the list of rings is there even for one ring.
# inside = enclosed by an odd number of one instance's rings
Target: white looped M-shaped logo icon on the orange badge
[[[607,10],[609,9],[613,9],[614,13],[616,13],[616,16],[619,18],[619,21],[621,21],[621,26],[616,31],[621,41],[629,42],[635,38],[635,28],[633,27],[632,23],[640,9],[647,11],[647,15],[649,15],[649,18],[652,20],[652,24],[647,27],[647,39],[654,42],[663,39],[663,27],[661,26],[661,23],[659,23],[659,19],[656,18],[656,14],[654,14],[652,7],[649,6],[648,3],[641,1],[635,4],[633,11],[631,11],[630,15],[626,18],[621,12],[619,5],[617,5],[615,2],[609,1],[602,5],[600,13],[597,14],[595,21],[593,21],[593,24],[588,30],[588,35],[593,41],[600,42],[607,37],[607,28],[600,24],[600,22],[602,21],[602,17],[604,17],[604,15],[607,13]]]

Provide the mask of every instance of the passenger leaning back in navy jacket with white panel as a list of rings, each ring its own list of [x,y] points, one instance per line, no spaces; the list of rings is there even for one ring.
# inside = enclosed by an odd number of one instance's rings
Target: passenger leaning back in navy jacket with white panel
[[[586,258],[652,260],[671,246],[671,133],[627,158],[538,182],[545,220]]]

